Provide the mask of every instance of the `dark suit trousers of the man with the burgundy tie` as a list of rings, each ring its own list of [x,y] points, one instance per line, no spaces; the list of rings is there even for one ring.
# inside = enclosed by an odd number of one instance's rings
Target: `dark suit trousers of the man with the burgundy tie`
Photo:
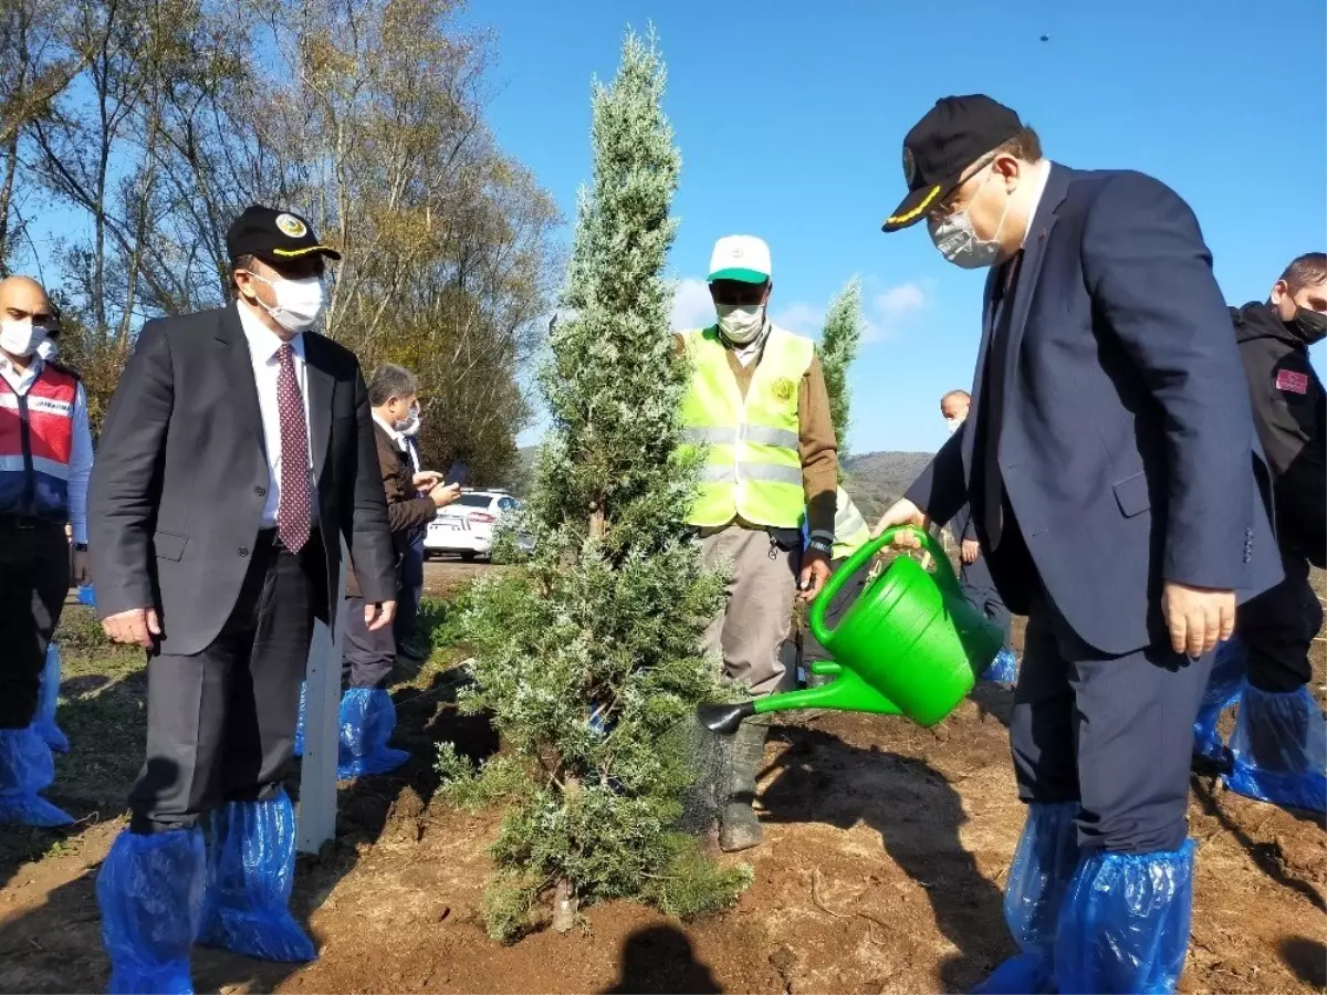
[[[223,801],[267,800],[280,788],[325,573],[316,529],[299,553],[265,529],[211,645],[149,657],[147,760],[129,795],[133,832],[188,829]]]

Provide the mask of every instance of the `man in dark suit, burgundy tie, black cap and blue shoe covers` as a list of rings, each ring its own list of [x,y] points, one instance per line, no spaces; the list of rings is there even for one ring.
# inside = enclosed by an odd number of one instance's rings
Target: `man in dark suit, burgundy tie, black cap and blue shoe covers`
[[[235,304],[139,333],[89,499],[97,612],[149,657],[147,762],[97,881],[114,991],[190,990],[195,939],[316,957],[287,910],[281,775],[313,620],[337,608],[342,537],[366,625],[390,630],[394,610],[364,377],[309,330],[324,260],[340,256],[304,219],[256,206],[227,248]]]

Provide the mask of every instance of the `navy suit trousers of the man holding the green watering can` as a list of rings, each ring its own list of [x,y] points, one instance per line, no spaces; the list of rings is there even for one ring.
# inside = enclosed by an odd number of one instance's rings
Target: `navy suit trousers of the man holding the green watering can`
[[[1010,746],[1019,799],[1078,801],[1079,845],[1173,850],[1188,833],[1189,759],[1216,654],[1103,655],[1044,592],[1032,596]]]

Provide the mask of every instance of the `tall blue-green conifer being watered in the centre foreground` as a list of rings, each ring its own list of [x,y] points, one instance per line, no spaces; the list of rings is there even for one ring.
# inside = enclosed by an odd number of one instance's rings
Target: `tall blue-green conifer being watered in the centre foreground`
[[[511,807],[486,907],[507,941],[547,899],[569,929],[588,902],[698,914],[750,881],[702,854],[683,813],[694,708],[725,695],[698,649],[722,578],[685,527],[699,458],[678,448],[689,369],[662,272],[681,157],[664,81],[653,34],[629,32],[617,77],[593,86],[593,180],[541,370],[551,429],[520,525],[535,551],[479,585],[466,616],[475,683],[463,708],[490,712],[506,750],[478,776],[441,750],[454,799]]]

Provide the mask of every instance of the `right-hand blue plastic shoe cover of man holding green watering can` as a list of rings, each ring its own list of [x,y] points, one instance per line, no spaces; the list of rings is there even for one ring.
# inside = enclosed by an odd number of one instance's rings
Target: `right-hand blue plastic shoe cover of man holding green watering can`
[[[1169,853],[1095,853],[1060,913],[1060,995],[1170,995],[1193,919],[1193,840]]]

